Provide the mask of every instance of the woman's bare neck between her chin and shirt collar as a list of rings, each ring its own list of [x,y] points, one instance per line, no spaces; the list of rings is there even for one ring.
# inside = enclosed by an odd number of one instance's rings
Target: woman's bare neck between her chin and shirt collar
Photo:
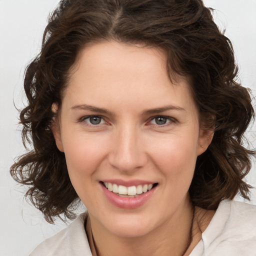
[[[93,217],[87,222],[86,230],[91,228],[89,244],[95,246],[97,256],[188,255],[193,216],[193,207],[188,200],[168,221],[142,236],[120,237],[106,230]]]

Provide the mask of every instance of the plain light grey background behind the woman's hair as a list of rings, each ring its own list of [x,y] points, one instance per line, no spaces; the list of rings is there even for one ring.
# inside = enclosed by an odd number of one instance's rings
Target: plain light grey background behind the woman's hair
[[[0,255],[23,256],[43,239],[62,229],[57,221],[50,225],[23,199],[24,188],[9,175],[13,158],[24,152],[18,108],[22,107],[24,67],[38,53],[46,17],[58,0],[0,0]],[[204,0],[216,9],[214,18],[231,39],[240,67],[242,84],[256,95],[256,0]],[[254,101],[255,103],[255,101]],[[255,125],[248,132],[256,147]],[[253,165],[247,177],[256,186]],[[237,197],[237,199],[240,199]],[[256,204],[252,190],[251,203]]]

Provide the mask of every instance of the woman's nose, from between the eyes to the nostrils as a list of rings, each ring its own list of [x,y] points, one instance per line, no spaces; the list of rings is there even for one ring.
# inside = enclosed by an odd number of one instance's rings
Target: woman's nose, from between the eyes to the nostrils
[[[120,128],[111,141],[109,163],[121,172],[132,173],[143,167],[147,157],[141,140],[141,135],[136,128],[129,126]]]

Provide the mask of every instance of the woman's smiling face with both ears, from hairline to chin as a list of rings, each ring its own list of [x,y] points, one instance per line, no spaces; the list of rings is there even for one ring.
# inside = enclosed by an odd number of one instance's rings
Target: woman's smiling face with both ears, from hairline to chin
[[[91,223],[118,236],[181,218],[209,143],[188,81],[170,82],[164,53],[113,41],[80,52],[53,131]]]

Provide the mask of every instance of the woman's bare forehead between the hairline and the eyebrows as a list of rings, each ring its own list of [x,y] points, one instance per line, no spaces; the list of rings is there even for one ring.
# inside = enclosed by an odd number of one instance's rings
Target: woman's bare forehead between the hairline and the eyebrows
[[[175,75],[173,84],[166,63],[165,52],[156,47],[115,41],[90,44],[79,52],[66,92],[76,104],[111,101],[129,108],[135,101],[144,103],[144,108],[191,104],[188,79]]]

